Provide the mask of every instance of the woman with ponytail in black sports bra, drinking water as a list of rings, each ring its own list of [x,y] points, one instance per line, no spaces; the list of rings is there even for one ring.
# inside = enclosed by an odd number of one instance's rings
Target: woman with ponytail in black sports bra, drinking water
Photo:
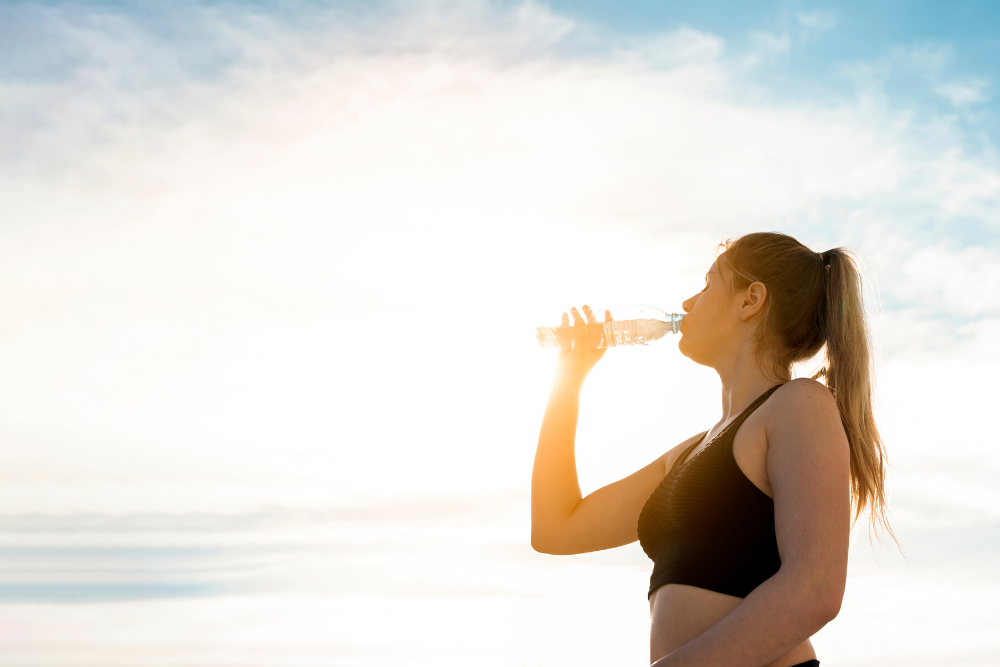
[[[853,520],[867,510],[888,529],[860,285],[839,248],[774,233],[726,243],[684,302],[678,344],[718,372],[722,419],[586,498],[573,441],[604,350],[588,342],[590,309],[571,311],[535,454],[531,544],[577,554],[639,540],[654,563],[656,667],[819,664],[809,637],[840,610],[852,506]],[[827,367],[792,380],[824,345]]]

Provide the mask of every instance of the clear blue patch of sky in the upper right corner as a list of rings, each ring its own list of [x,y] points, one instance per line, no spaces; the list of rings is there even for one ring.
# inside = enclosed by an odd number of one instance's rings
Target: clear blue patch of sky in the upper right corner
[[[559,12],[629,35],[691,27],[733,52],[771,37],[781,50],[753,76],[763,95],[819,101],[871,87],[918,115],[950,116],[966,147],[1000,136],[1000,7],[993,2],[553,2]],[[909,52],[909,53],[908,53]],[[942,90],[946,81],[962,82]]]

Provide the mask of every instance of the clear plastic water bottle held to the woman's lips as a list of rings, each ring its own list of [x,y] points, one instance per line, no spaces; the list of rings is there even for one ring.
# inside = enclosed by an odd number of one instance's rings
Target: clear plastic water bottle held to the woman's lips
[[[597,317],[601,317],[602,313],[603,309],[594,309]],[[587,324],[590,327],[590,342],[594,347],[647,345],[668,333],[680,331],[681,320],[684,319],[682,314],[666,313],[653,306],[629,306],[612,310],[611,314],[620,319]],[[569,350],[573,347],[573,325],[538,327],[536,332],[538,346],[541,348]]]

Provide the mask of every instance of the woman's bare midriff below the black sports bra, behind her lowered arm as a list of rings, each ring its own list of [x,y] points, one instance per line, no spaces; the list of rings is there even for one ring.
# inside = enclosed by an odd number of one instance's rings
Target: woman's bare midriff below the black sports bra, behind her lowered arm
[[[704,588],[667,584],[649,598],[649,661],[676,651],[708,630],[732,611],[743,598]],[[767,667],[791,667],[816,657],[807,639]]]

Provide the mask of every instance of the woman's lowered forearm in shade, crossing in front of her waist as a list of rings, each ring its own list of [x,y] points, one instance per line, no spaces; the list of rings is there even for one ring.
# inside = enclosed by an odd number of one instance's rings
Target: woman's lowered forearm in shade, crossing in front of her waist
[[[839,603],[802,577],[779,572],[753,590],[722,620],[652,667],[759,667],[811,637]]]

